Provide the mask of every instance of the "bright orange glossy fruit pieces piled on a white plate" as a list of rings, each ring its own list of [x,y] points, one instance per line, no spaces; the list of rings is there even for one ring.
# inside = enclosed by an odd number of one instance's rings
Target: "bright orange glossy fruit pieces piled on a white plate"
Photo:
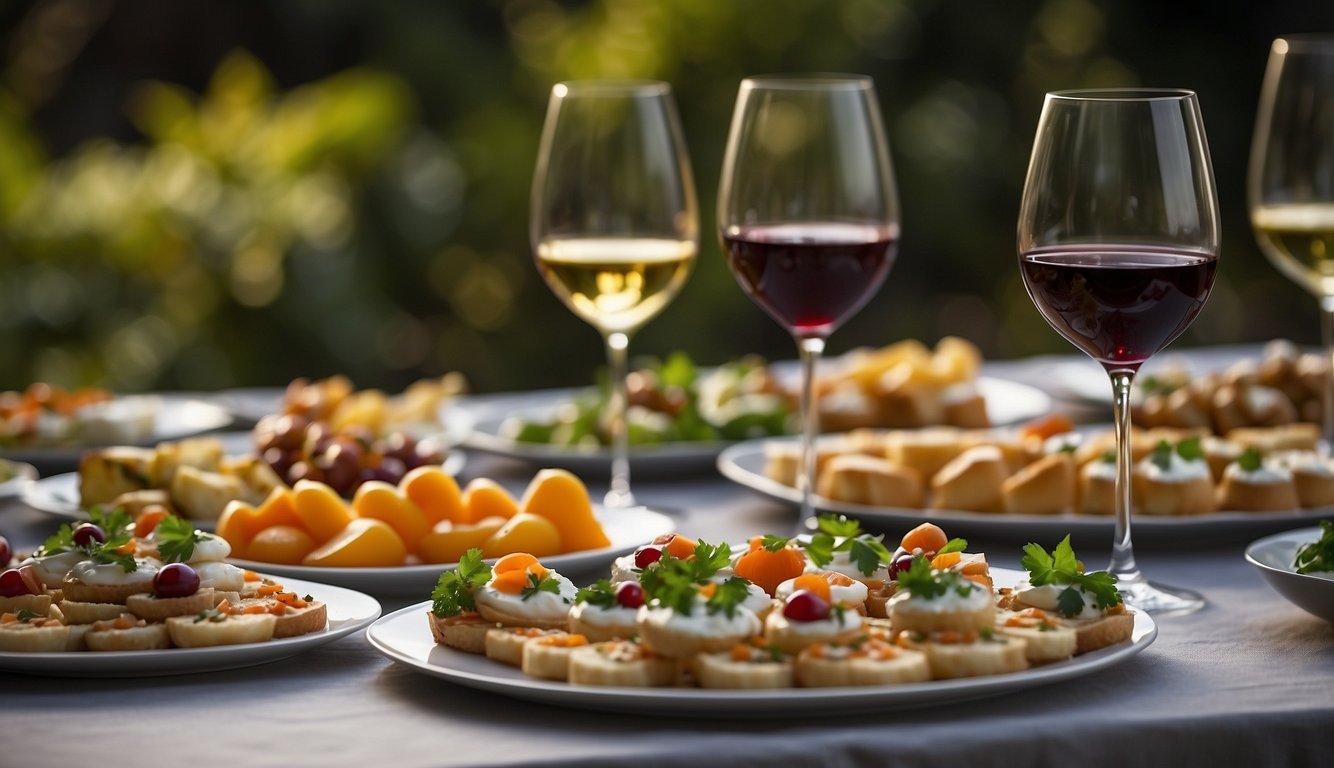
[[[538,472],[518,500],[486,477],[460,489],[439,467],[418,467],[396,485],[363,483],[351,501],[299,480],[259,504],[229,503],[217,535],[239,559],[329,568],[455,563],[471,548],[544,557],[611,544],[588,489],[562,469]]]

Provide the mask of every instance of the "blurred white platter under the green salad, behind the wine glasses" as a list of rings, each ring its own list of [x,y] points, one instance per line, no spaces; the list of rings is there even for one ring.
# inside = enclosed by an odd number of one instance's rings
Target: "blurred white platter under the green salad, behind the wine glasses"
[[[782,364],[775,364],[780,367]],[[983,376],[978,389],[986,397],[987,416],[992,424],[1017,424],[1051,411],[1051,399],[1027,384]],[[587,396],[588,389],[543,389],[514,392],[486,399],[462,397],[446,411],[450,432],[467,432],[463,444],[475,451],[519,459],[543,467],[562,467],[579,475],[606,475],[611,465],[611,451],[602,447],[571,448],[542,443],[520,443],[500,433],[500,425],[511,416],[532,421],[550,420],[555,411]],[[630,463],[639,476],[667,476],[699,472],[714,465],[718,455],[732,445],[728,441],[663,443],[659,445],[631,445]]]

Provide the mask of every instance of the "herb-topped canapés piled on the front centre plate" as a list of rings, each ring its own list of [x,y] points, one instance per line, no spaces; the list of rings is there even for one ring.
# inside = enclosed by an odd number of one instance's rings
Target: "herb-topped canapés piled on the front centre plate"
[[[667,533],[584,588],[530,553],[479,551],[440,575],[436,643],[576,685],[891,685],[1018,672],[1130,640],[1114,579],[1066,537],[1025,547],[1027,581],[994,588],[986,556],[930,523],[890,551],[822,516],[804,539],[743,552]]]

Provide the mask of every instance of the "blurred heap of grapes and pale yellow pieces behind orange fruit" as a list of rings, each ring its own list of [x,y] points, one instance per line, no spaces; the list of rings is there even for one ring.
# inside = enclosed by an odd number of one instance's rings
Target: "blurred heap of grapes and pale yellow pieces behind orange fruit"
[[[399,395],[356,389],[346,376],[288,384],[277,413],[255,425],[255,451],[288,484],[319,480],[350,497],[370,480],[398,483],[408,471],[444,460],[444,403],[467,388],[448,373]]]

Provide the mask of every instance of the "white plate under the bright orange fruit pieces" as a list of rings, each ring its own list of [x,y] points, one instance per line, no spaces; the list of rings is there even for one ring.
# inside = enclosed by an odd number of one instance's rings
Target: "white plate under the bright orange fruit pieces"
[[[543,557],[542,564],[562,573],[588,572],[610,564],[612,559],[632,552],[640,544],[647,544],[659,533],[671,532],[676,527],[671,517],[643,507],[630,509],[598,507],[595,513],[598,521],[602,523],[602,529],[607,532],[607,539],[611,539],[611,547],[552,555]],[[364,589],[372,595],[419,595],[423,597],[435,588],[442,571],[458,565],[458,563],[444,563],[394,568],[315,568],[237,559],[229,561],[251,571],[263,571],[284,577],[313,579],[325,584]],[[606,576],[606,573],[600,573],[600,576]]]

